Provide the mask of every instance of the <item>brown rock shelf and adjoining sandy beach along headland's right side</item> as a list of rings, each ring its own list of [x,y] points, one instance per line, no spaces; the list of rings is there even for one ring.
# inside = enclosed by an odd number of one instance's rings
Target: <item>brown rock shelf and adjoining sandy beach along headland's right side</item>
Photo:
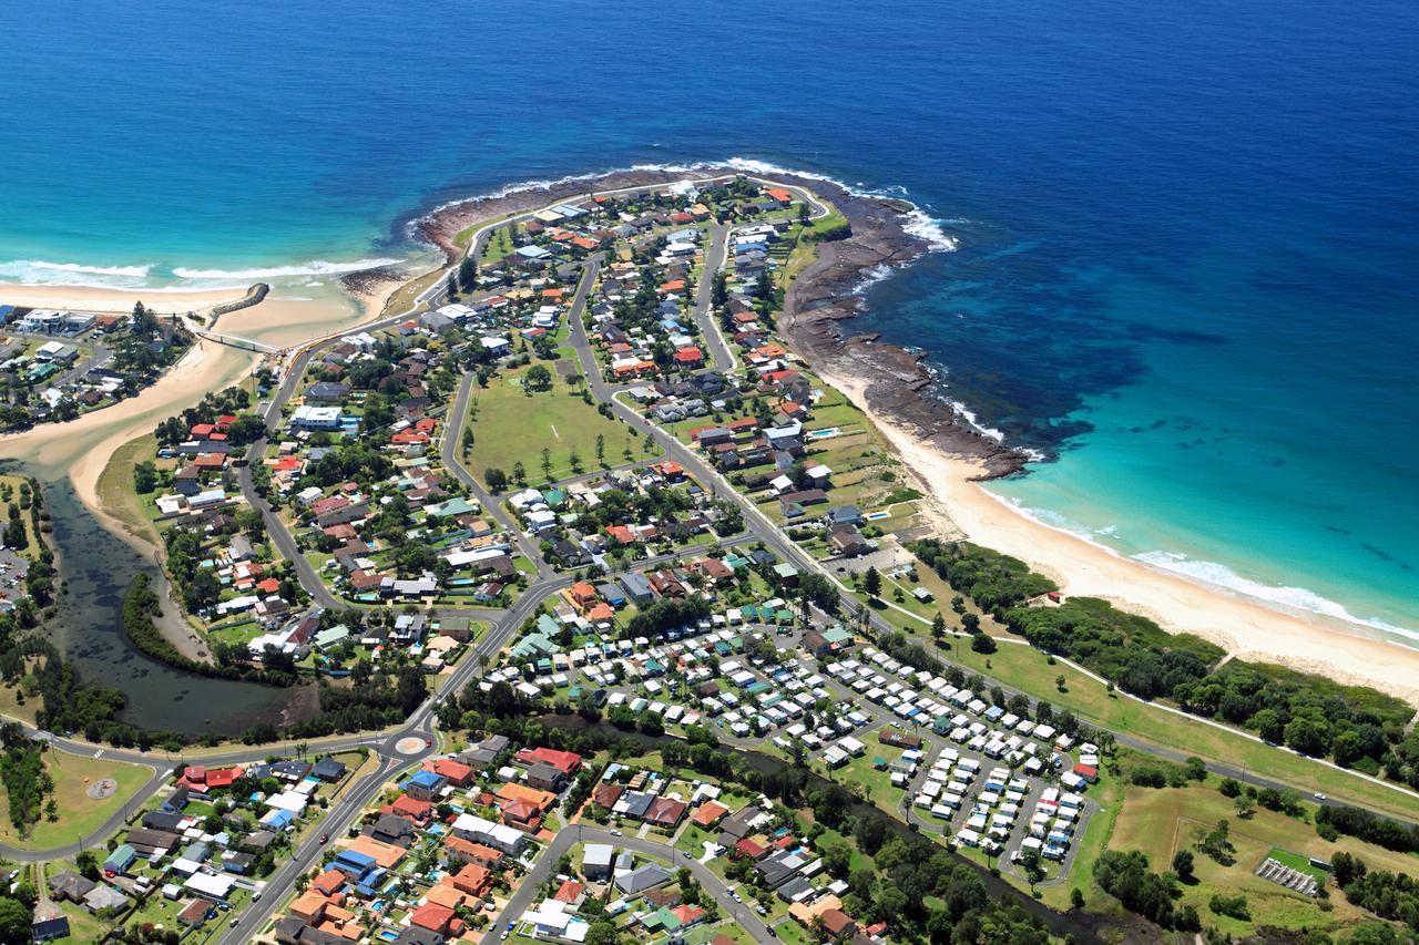
[[[863,280],[883,265],[910,264],[931,247],[907,230],[891,203],[849,194],[839,209],[853,236],[826,244],[805,268],[788,292],[779,328],[901,455],[927,492],[921,511],[935,531],[1019,558],[1069,596],[1101,597],[1171,633],[1210,640],[1230,657],[1371,685],[1419,705],[1416,648],[1125,558],[989,492],[986,482],[1023,471],[1029,457],[975,429],[935,396],[935,377],[920,352],[849,333],[860,312],[856,289]]]

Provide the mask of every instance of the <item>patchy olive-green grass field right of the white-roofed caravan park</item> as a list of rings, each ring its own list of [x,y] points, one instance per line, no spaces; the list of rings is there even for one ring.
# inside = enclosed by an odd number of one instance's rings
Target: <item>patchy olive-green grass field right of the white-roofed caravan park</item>
[[[1128,788],[1110,846],[1115,850],[1141,850],[1148,854],[1151,868],[1161,871],[1169,868],[1175,851],[1193,847],[1193,831],[1212,830],[1219,820],[1230,824],[1235,860],[1222,864],[1193,850],[1198,881],[1183,887],[1182,902],[1195,905],[1205,924],[1233,935],[1244,934],[1254,925],[1337,931],[1365,917],[1361,910],[1345,902],[1345,897],[1334,887],[1330,895],[1334,908],[1327,912],[1315,900],[1257,877],[1257,866],[1277,849],[1303,864],[1307,857],[1328,861],[1335,853],[1345,851],[1364,858],[1372,870],[1409,874],[1419,871],[1419,856],[1393,853],[1354,837],[1328,843],[1310,824],[1281,813],[1259,809],[1252,817],[1242,820],[1236,816],[1232,800],[1203,785]],[[1311,867],[1307,864],[1307,868]],[[1324,875],[1324,871],[1315,873]],[[1215,892],[1246,895],[1252,921],[1213,914],[1208,901]]]

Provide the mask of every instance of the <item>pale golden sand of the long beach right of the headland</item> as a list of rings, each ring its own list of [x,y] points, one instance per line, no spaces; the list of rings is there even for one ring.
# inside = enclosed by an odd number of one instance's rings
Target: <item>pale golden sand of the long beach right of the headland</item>
[[[928,516],[948,534],[965,535],[1027,562],[1059,582],[1066,595],[1104,597],[1156,620],[1166,630],[1210,640],[1235,657],[1371,685],[1419,705],[1419,650],[1324,626],[1320,619],[1283,613],[1036,522],[973,481],[986,474],[981,460],[948,455],[905,426],[870,410],[861,380],[819,373],[867,410],[929,492],[937,508],[927,509]]]

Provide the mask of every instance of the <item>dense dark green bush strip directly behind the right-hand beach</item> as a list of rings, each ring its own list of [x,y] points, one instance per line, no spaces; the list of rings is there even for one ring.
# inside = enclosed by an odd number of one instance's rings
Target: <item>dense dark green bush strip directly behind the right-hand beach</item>
[[[1015,558],[969,542],[920,541],[912,551],[955,590],[972,596],[1032,646],[1066,656],[1125,692],[1165,698],[1195,715],[1249,729],[1304,755],[1384,773],[1419,786],[1413,709],[1364,687],[1284,667],[1232,660],[1192,634],[1166,633],[1107,600],[1074,597],[1051,607],[1027,602],[1054,589]]]

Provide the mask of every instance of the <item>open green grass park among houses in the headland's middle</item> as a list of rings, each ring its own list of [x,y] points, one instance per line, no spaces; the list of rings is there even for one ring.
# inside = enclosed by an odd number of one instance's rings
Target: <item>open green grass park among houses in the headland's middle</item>
[[[573,451],[582,470],[590,472],[597,468],[596,437],[603,437],[606,463],[612,465],[623,461],[626,447],[640,455],[640,437],[627,424],[603,417],[558,380],[551,390],[529,397],[521,385],[525,373],[526,369],[501,375],[487,389],[474,392],[477,411],[470,426],[475,440],[467,464],[480,480],[494,467],[511,477],[514,464],[522,463],[529,482],[543,482],[543,448],[549,451],[555,478],[573,475]]]

